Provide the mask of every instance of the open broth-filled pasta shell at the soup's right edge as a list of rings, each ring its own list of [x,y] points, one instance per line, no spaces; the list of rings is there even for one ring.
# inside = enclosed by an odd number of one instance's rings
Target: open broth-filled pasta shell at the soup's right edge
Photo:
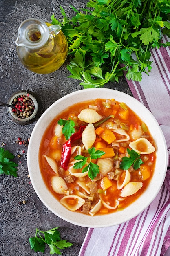
[[[155,151],[155,147],[146,138],[140,138],[132,141],[129,146],[139,154],[150,154]]]

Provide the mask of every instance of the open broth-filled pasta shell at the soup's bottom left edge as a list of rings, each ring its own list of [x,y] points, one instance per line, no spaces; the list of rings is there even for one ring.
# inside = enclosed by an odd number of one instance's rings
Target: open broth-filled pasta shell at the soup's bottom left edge
[[[78,195],[66,195],[60,199],[60,203],[63,204],[68,210],[76,211],[85,203],[85,200]]]

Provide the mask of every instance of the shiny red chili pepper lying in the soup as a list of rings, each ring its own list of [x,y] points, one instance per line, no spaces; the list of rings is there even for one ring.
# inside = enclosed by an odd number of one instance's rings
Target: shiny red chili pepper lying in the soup
[[[78,132],[75,132],[71,135],[70,139],[66,141],[62,146],[62,156],[60,160],[60,166],[66,171],[71,157],[71,142],[81,139],[82,133],[86,125],[80,126]]]

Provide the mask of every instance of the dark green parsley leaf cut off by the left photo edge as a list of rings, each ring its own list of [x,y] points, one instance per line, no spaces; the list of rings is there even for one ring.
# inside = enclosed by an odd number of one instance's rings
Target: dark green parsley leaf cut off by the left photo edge
[[[0,148],[0,174],[7,174],[17,177],[17,163],[10,161],[15,156],[4,148]]]

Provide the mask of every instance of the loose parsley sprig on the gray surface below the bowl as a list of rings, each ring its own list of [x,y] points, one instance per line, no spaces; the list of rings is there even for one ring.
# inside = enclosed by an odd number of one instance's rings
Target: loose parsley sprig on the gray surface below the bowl
[[[59,227],[55,227],[44,232],[36,228],[35,237],[29,238],[31,249],[35,252],[44,252],[45,245],[47,244],[50,247],[50,254],[61,254],[59,249],[72,246],[73,244],[67,242],[67,240],[61,240],[60,232],[57,231],[58,228]]]

